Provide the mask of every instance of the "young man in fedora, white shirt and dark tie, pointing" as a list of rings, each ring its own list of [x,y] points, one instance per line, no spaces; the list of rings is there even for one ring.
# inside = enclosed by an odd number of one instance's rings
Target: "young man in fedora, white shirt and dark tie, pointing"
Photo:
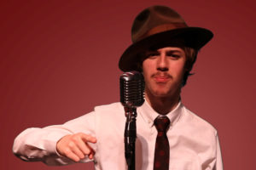
[[[212,32],[187,26],[171,8],[153,6],[137,15],[131,37],[119,68],[142,71],[145,80],[145,102],[137,108],[137,169],[222,170],[217,131],[180,99]],[[49,165],[94,161],[96,169],[125,169],[123,112],[120,103],[102,105],[63,125],[28,128],[15,139],[14,153]]]

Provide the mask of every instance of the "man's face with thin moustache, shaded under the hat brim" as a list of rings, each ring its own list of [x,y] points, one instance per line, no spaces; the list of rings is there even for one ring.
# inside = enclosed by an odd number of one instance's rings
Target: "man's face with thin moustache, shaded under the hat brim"
[[[143,60],[145,92],[155,97],[170,97],[180,93],[186,57],[182,48],[166,47],[149,51]]]

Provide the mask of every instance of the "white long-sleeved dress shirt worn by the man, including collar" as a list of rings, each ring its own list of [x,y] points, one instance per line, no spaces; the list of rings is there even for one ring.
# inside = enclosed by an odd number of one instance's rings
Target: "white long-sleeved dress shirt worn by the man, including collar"
[[[157,130],[154,119],[159,116],[148,102],[137,108],[136,169],[152,170]],[[222,170],[217,131],[208,122],[186,109],[181,102],[166,116],[171,121],[167,131],[170,144],[169,169]],[[125,111],[120,103],[96,106],[84,116],[63,125],[28,128],[15,139],[13,151],[25,161],[44,161],[48,165],[66,165],[73,161],[60,156],[56,142],[72,133],[96,137],[94,162],[96,170],[124,170]],[[90,161],[85,158],[81,162]]]

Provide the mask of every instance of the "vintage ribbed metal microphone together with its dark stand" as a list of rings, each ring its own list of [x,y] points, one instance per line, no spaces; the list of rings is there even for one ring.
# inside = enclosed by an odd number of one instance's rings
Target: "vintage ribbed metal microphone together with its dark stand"
[[[128,170],[135,170],[137,107],[144,103],[144,79],[138,71],[123,73],[120,78],[120,102],[125,109],[125,159]]]

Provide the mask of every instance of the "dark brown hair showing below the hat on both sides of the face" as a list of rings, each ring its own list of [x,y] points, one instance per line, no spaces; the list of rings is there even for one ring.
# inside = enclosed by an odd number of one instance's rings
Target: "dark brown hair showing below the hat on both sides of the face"
[[[185,63],[185,73],[183,76],[183,82],[182,87],[184,87],[187,83],[188,77],[194,75],[194,73],[191,73],[190,71],[193,68],[193,65],[195,64],[195,60],[197,57],[198,51],[195,50],[195,48],[189,48],[189,47],[181,47],[185,53],[186,56],[186,63]],[[135,70],[137,71],[143,71],[143,61],[147,59],[147,56],[145,54],[138,54],[138,61],[135,65]]]

